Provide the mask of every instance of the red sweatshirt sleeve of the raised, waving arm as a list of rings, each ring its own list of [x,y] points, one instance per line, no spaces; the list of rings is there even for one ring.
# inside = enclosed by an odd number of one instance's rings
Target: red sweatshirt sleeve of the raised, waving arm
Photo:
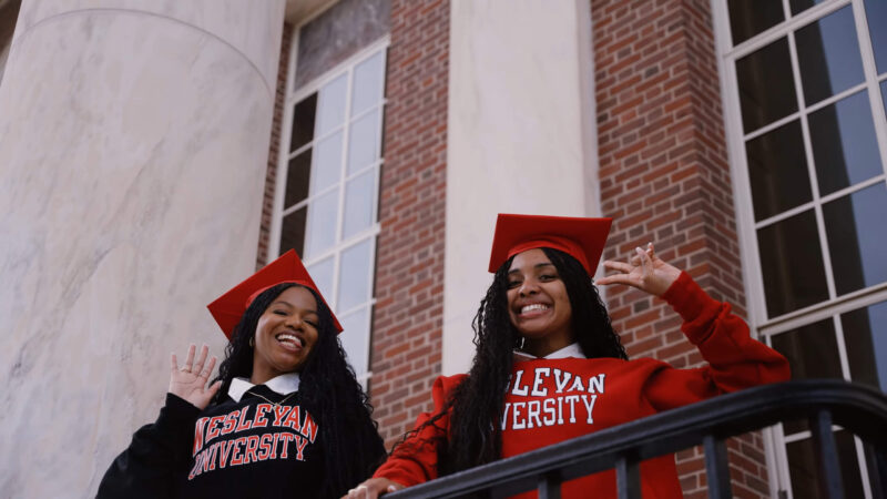
[[[785,357],[752,339],[745,320],[734,315],[728,304],[708,296],[685,272],[662,297],[681,316],[681,329],[707,365],[656,369],[644,387],[656,410],[791,378]]]

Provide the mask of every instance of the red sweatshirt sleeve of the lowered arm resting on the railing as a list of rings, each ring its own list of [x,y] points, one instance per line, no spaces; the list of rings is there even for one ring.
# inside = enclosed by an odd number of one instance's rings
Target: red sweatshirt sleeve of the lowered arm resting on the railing
[[[437,446],[446,440],[450,425],[450,415],[445,414],[443,408],[450,394],[463,378],[465,375],[439,376],[435,380],[431,388],[434,410],[419,415],[412,431],[395,447],[373,478],[387,478],[405,487],[411,487],[438,477]]]

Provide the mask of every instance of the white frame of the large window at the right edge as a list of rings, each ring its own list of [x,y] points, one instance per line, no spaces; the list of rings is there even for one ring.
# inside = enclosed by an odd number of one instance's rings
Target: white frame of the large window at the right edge
[[[846,345],[844,344],[844,332],[840,322],[840,314],[887,299],[887,283],[880,283],[853,293],[848,293],[846,295],[836,296],[835,283],[832,273],[830,254],[828,253],[828,242],[826,241],[826,232],[822,214],[822,205],[830,200],[847,195],[852,192],[859,191],[877,183],[887,182],[887,120],[885,120],[885,108],[880,91],[880,84],[887,80],[887,74],[880,78],[877,77],[871,39],[869,37],[868,27],[864,16],[864,0],[824,1],[823,3],[808,8],[795,17],[792,17],[791,14],[789,0],[782,0],[784,20],[735,47],[732,44],[730,13],[727,11],[726,1],[727,0],[712,0],[712,13],[718,73],[721,75],[721,95],[722,106],[724,110],[727,153],[731,173],[734,180],[733,197],[740,235],[740,253],[743,263],[743,282],[745,283],[748,322],[752,326],[753,336],[763,337],[763,339],[769,344],[771,337],[775,334],[832,317],[837,338],[838,357],[840,359],[843,376],[845,379],[849,380],[850,373],[847,361]],[[864,82],[855,85],[852,89],[842,91],[822,102],[817,102],[814,105],[807,106],[803,94],[804,89],[799,84],[799,65],[794,33],[797,31],[797,29],[815,22],[818,19],[822,19],[823,17],[847,6],[853,6],[854,23],[859,44],[859,53],[863,61],[863,72],[865,78]],[[742,112],[740,109],[738,83],[736,80],[735,62],[738,59],[751,54],[752,52],[783,37],[787,37],[788,41],[789,55],[792,58],[792,73],[793,78],[795,79],[795,92],[798,109],[791,115],[769,123],[759,130],[755,130],[752,133],[745,133],[742,126]],[[748,165],[745,155],[746,141],[794,121],[798,119],[798,116],[803,116],[799,122],[802,125],[808,175],[816,177],[816,172],[814,171],[815,164],[812,157],[807,116],[815,110],[835,103],[845,96],[864,90],[868,93],[869,98],[871,116],[875,124],[875,135],[877,138],[881,167],[884,172],[869,181],[858,183],[823,197],[819,197],[819,193],[815,191],[817,186],[814,183],[814,191],[812,192],[813,201],[805,203],[802,206],[792,208],[785,213],[781,213],[779,215],[763,220],[761,222],[755,222],[752,207]],[[810,305],[798,310],[793,310],[778,317],[767,318],[763,273],[761,269],[761,262],[757,257],[757,228],[809,210],[810,207],[814,207],[815,210],[829,298],[822,303]],[[777,497],[779,490],[785,490],[788,495],[787,497],[789,499],[793,498],[792,482],[788,472],[788,460],[787,456],[785,455],[785,444],[801,440],[806,437],[809,437],[809,432],[786,437],[783,434],[782,425],[776,425],[764,430],[767,469],[775,471],[771,472],[768,480],[772,497]],[[859,458],[859,472],[863,480],[863,488],[866,497],[870,498],[871,490],[869,487],[863,445],[858,438],[855,440],[857,457]]]

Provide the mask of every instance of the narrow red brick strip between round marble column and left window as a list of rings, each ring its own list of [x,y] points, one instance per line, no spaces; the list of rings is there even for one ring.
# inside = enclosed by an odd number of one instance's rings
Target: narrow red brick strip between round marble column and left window
[[[258,230],[258,251],[256,252],[256,271],[268,263],[268,240],[271,238],[271,220],[274,212],[274,193],[277,189],[277,159],[281,152],[282,130],[284,122],[284,104],[286,102],[286,78],[289,71],[289,44],[293,39],[293,27],[284,24],[281,40],[281,59],[277,63],[277,90],[274,95],[274,123],[271,129],[268,146],[268,167],[265,173],[265,197],[262,203],[262,224]],[[276,253],[276,252],[275,252]]]

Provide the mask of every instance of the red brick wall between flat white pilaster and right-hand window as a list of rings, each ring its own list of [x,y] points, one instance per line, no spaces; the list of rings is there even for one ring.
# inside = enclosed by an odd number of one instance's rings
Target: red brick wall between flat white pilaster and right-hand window
[[[601,207],[614,217],[606,258],[653,241],[715,298],[745,315],[731,173],[708,0],[593,0]],[[701,363],[662,301],[608,288],[632,357]],[[736,497],[766,497],[759,435],[730,442]],[[705,497],[700,449],[677,455],[687,497]]]

